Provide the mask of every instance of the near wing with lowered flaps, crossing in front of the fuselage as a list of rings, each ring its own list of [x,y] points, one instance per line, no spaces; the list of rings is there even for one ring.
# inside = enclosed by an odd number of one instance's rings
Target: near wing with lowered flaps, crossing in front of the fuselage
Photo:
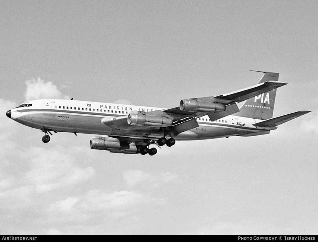
[[[144,132],[146,135],[148,135],[149,132],[147,131],[159,130],[160,127],[165,127],[174,132],[176,135],[186,130],[198,127],[199,125],[195,117],[208,115],[211,121],[215,121],[217,119],[239,112],[236,102],[250,99],[286,84],[287,83],[279,81],[266,81],[264,83],[250,86],[232,93],[181,100],[179,107],[151,112],[133,111],[137,112],[135,115],[138,115],[141,120],[148,117],[148,121],[146,121],[144,125],[140,123],[128,123],[128,116],[103,118],[101,122],[106,126],[113,128],[114,132],[125,132],[124,130],[128,132],[129,130],[129,132],[132,133]],[[169,120],[169,122],[168,124],[156,123],[158,120]]]

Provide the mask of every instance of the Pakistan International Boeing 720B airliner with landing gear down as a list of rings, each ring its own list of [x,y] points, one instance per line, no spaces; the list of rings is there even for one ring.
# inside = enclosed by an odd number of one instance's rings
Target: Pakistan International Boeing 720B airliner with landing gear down
[[[6,115],[31,128],[41,129],[44,143],[51,131],[105,135],[91,138],[91,149],[113,153],[157,153],[157,146],[176,140],[204,140],[229,136],[265,135],[278,125],[310,111],[273,118],[279,73],[262,72],[258,85],[218,96],[180,101],[164,109],[77,100],[34,100],[9,110]],[[237,102],[245,101],[241,108]]]

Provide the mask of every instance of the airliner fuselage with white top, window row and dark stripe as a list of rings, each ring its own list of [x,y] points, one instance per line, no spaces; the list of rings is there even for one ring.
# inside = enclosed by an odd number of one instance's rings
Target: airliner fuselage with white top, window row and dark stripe
[[[163,108],[78,100],[34,100],[25,104],[26,107],[11,109],[10,118],[31,128],[148,139],[163,136],[160,128],[145,133],[132,131],[130,134],[127,132],[121,134],[120,130],[114,130],[101,123],[101,119],[105,117],[127,116],[131,111],[150,112]],[[255,119],[234,115],[216,121],[210,121],[207,115],[196,119],[199,127],[182,132],[174,136],[174,139],[203,140],[234,135],[254,136],[267,134],[269,130],[275,129],[274,127],[256,128],[252,125],[256,122]]]

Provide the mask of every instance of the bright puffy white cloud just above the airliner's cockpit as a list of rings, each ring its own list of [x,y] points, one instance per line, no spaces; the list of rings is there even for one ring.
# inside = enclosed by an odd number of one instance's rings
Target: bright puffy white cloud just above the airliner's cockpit
[[[70,99],[69,96],[63,95],[51,81],[45,82],[38,77],[36,80],[34,78],[27,80],[25,84],[27,87],[25,92],[26,101],[37,99]]]

